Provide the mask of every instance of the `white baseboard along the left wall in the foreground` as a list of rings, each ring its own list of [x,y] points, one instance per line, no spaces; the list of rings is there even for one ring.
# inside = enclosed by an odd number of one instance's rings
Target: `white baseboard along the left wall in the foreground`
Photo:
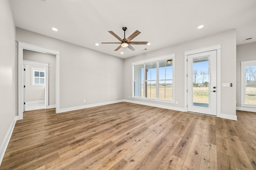
[[[4,154],[5,154],[5,151],[6,151],[7,147],[8,147],[9,141],[11,139],[15,123],[16,123],[16,117],[14,117],[14,119],[12,121],[12,124],[9,127],[8,132],[6,133],[6,136],[4,138],[4,142],[2,143],[2,146],[0,147],[0,166],[2,164],[2,160],[4,158]]]

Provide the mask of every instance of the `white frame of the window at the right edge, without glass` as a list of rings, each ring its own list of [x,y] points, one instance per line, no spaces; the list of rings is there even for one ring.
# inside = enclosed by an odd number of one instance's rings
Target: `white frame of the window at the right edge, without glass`
[[[245,103],[245,67],[256,65],[256,60],[241,61],[241,106],[244,107],[256,107],[256,104]]]

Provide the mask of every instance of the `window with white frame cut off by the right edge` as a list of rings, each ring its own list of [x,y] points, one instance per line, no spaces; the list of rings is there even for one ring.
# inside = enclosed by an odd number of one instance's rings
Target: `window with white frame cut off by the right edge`
[[[256,107],[256,60],[241,62],[241,106]]]

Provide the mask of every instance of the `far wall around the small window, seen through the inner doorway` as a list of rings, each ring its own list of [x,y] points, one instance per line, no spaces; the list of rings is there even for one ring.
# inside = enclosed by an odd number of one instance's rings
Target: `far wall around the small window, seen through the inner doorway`
[[[31,80],[31,67],[44,68],[40,66],[26,65],[25,71],[25,99],[24,102],[33,102],[45,100],[45,85],[44,86],[32,86]]]

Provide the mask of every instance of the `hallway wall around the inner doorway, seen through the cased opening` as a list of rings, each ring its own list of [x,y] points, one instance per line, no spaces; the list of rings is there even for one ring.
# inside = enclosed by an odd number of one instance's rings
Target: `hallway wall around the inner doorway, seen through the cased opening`
[[[56,56],[36,51],[23,50],[23,59],[49,63],[49,105],[56,103]]]

